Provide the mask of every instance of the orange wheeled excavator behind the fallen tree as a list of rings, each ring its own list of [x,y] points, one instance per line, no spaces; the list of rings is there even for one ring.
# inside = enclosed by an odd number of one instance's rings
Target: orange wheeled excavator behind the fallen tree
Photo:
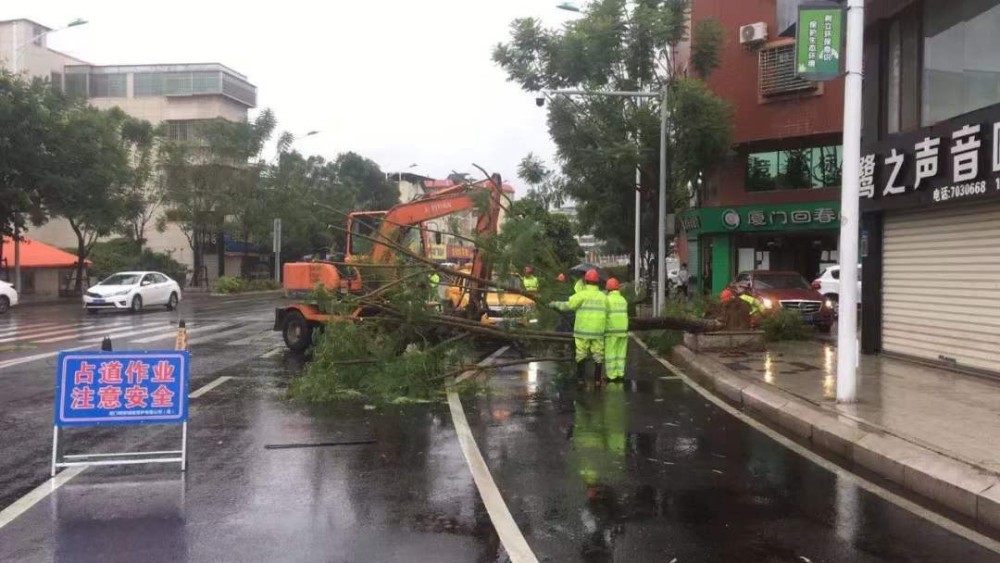
[[[401,203],[388,211],[355,211],[347,219],[347,252],[344,261],[338,264],[326,262],[292,262],[282,269],[283,287],[287,294],[307,294],[317,284],[328,291],[365,294],[377,291],[387,282],[386,270],[393,272],[390,277],[399,279],[405,269],[397,272],[391,266],[402,261],[396,248],[408,248],[421,256],[428,256],[430,237],[425,224],[454,213],[475,209],[481,201],[478,194],[488,194],[488,205],[479,213],[476,233],[480,235],[497,232],[501,198],[503,197],[500,175],[494,174],[489,180],[459,184],[429,194],[421,199]],[[369,266],[366,268],[365,266]],[[491,266],[481,252],[475,252],[472,261],[472,276],[490,279]],[[367,278],[367,279],[365,279]],[[486,290],[479,284],[464,286],[468,298],[463,300],[470,315],[488,309]],[[359,308],[348,318],[358,319],[369,311]],[[332,319],[332,315],[320,310],[315,302],[300,301],[275,310],[274,330],[280,331],[285,345],[295,351],[302,351],[312,343],[312,333]]]

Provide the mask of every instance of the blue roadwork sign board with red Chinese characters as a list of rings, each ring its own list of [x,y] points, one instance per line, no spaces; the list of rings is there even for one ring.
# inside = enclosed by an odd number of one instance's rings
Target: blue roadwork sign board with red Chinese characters
[[[61,352],[56,426],[187,421],[191,359],[180,352]]]

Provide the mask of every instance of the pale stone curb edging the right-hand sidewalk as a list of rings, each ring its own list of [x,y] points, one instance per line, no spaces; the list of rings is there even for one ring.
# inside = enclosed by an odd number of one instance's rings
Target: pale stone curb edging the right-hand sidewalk
[[[654,356],[656,353],[650,350]],[[684,346],[671,359],[692,379],[811,445],[872,471],[907,491],[938,502],[976,523],[1000,530],[1000,475],[932,451],[767,383],[737,374]]]

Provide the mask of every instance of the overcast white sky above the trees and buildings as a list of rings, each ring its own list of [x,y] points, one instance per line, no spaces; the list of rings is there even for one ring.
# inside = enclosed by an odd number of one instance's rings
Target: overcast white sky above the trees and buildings
[[[257,86],[296,148],[353,150],[395,171],[443,177],[499,171],[524,193],[517,163],[551,159],[545,111],[490,60],[513,18],[559,25],[556,0],[4,0],[0,20],[85,26],[49,46],[93,64],[219,62]]]

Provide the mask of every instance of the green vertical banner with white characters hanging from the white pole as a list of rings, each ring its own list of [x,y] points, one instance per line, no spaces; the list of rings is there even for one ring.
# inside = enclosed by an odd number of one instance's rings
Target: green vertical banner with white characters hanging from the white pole
[[[806,80],[833,80],[841,76],[844,53],[844,9],[800,6],[795,26],[795,70]]]

